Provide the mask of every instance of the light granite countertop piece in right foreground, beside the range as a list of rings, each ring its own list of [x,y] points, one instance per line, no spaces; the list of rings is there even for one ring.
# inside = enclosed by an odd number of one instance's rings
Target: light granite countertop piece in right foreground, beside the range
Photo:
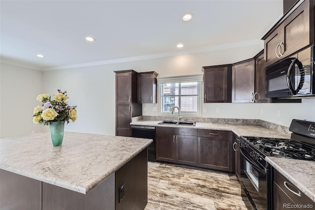
[[[271,166],[315,202],[315,162],[266,157]]]

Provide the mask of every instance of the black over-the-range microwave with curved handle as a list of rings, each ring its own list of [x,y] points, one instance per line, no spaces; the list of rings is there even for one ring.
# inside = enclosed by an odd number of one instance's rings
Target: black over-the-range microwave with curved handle
[[[266,69],[267,98],[315,97],[315,47],[311,46]]]

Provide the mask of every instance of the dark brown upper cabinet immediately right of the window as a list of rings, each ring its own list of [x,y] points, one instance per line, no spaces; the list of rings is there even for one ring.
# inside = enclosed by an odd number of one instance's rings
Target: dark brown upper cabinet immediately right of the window
[[[204,103],[231,102],[232,65],[202,67]]]

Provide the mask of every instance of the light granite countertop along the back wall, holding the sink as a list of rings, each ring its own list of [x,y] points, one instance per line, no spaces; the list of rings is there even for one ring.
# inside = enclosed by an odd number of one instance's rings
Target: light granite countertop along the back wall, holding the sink
[[[237,136],[253,136],[253,137],[270,137],[270,138],[290,139],[289,135],[274,131],[272,129],[269,129],[269,128],[266,128],[266,127],[263,127],[260,125],[239,125],[239,124],[196,122],[196,126],[180,126],[180,125],[160,125],[160,124],[158,124],[159,122],[160,122],[160,120],[159,121],[139,120],[139,121],[130,123],[130,125],[224,130],[224,131],[232,131]]]

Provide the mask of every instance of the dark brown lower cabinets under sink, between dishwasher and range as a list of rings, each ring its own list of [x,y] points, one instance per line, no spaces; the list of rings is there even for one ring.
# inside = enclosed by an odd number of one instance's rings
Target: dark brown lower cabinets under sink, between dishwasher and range
[[[233,172],[230,131],[156,127],[158,161]]]

